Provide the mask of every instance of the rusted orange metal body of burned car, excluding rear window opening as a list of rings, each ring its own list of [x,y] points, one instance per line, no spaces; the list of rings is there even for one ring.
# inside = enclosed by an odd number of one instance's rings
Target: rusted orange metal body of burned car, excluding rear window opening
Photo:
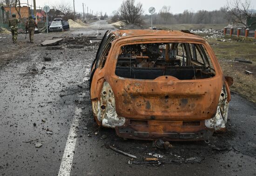
[[[216,130],[210,119],[227,110],[231,78],[226,77],[225,81],[206,40],[182,31],[124,30],[112,34],[116,39],[111,44],[105,66],[96,69],[91,80],[90,94],[97,124],[115,128],[117,135],[123,138],[209,139]],[[154,80],[140,80],[115,75],[121,46],[168,42],[202,44],[209,54],[215,76],[179,80],[164,75]]]

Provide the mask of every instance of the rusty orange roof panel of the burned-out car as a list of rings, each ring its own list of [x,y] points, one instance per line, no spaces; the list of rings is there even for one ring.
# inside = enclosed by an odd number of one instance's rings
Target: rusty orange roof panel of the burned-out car
[[[174,31],[174,30],[119,30],[112,31],[118,38],[120,37],[142,37],[142,36],[181,36],[186,38],[202,38],[200,36],[196,36],[190,31]]]

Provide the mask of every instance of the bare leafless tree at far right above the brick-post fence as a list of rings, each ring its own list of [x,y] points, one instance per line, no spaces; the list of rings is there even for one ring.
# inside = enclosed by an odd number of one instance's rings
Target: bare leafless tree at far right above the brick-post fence
[[[235,23],[240,23],[242,25],[246,24],[246,19],[250,18],[252,13],[250,11],[251,9],[251,1],[250,0],[244,0],[243,2],[241,0],[227,0],[227,15],[226,18],[231,20]]]

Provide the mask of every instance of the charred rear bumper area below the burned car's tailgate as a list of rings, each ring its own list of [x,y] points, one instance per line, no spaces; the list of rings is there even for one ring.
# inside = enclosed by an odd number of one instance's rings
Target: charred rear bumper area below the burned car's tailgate
[[[123,126],[115,127],[121,138],[164,141],[195,141],[209,139],[214,129],[205,126],[205,120],[136,120],[126,119]]]

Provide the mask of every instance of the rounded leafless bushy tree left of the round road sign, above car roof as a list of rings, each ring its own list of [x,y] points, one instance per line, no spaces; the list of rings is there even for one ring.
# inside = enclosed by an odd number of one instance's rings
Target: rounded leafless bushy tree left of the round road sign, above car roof
[[[139,2],[135,5],[135,0],[124,0],[118,10],[120,19],[126,24],[142,24],[142,4]]]

